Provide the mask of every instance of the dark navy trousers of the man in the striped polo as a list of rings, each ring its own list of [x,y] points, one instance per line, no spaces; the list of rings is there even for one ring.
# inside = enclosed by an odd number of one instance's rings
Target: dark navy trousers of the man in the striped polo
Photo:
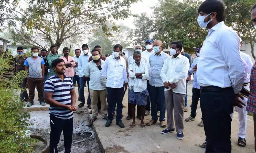
[[[73,118],[63,120],[50,115],[50,153],[58,153],[58,143],[60,135],[63,131],[65,153],[71,152],[72,134],[73,134]]]

